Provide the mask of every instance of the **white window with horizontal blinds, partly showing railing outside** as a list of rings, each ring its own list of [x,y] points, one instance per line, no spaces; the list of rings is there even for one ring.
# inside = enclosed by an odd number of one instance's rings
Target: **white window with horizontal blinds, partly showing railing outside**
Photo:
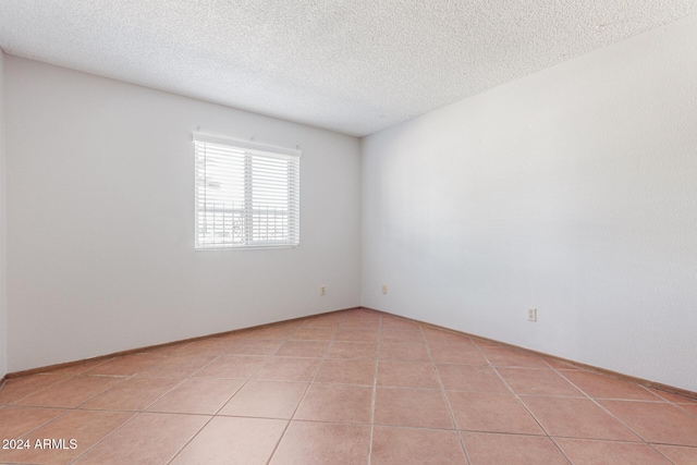
[[[299,150],[194,135],[196,249],[299,244]]]

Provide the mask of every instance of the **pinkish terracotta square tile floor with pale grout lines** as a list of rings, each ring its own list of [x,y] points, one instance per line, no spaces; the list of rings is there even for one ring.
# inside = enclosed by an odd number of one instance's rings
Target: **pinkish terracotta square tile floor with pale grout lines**
[[[30,445],[0,463],[697,464],[697,402],[356,309],[11,379],[0,438]]]

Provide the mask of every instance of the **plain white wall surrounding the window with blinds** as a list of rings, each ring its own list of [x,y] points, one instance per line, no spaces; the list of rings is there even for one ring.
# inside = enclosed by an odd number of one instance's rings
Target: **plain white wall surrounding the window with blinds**
[[[358,139],[9,56],[5,85],[8,371],[360,304]],[[198,129],[299,145],[299,247],[194,252]]]

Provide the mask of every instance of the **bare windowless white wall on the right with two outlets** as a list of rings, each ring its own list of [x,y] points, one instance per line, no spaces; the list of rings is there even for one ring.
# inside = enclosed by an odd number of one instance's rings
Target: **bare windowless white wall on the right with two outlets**
[[[697,391],[696,49],[692,16],[365,138],[363,304]]]

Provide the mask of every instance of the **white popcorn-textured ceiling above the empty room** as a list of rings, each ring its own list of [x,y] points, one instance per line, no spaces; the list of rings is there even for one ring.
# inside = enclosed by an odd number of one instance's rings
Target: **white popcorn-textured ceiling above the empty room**
[[[0,0],[10,54],[363,136],[697,0]]]

